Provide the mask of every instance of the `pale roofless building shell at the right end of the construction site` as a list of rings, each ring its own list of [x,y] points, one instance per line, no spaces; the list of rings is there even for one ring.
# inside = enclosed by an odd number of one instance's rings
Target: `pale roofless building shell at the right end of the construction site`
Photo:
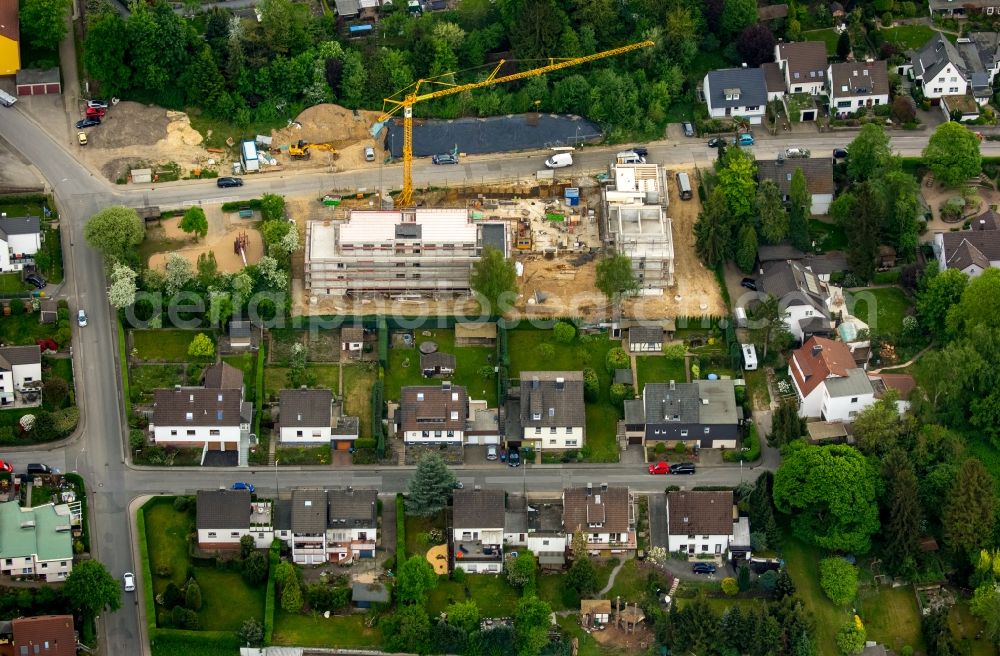
[[[632,259],[642,290],[674,285],[674,240],[666,216],[666,172],[656,164],[613,164],[604,188],[608,242]]]

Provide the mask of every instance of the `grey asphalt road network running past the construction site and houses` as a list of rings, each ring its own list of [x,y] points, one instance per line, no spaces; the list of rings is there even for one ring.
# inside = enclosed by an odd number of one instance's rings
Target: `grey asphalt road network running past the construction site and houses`
[[[11,450],[8,458],[17,466],[28,462],[47,462],[63,471],[76,470],[87,481],[90,496],[92,550],[116,576],[125,571],[137,571],[129,537],[127,506],[131,499],[143,493],[193,492],[199,488],[228,486],[233,480],[253,482],[263,492],[275,488],[275,472],[263,470],[183,470],[134,468],[126,464],[123,453],[123,413],[118,389],[118,366],[114,317],[105,300],[105,278],[100,256],[83,238],[85,221],[103,207],[124,204],[170,206],[199,202],[218,202],[259,196],[265,192],[279,194],[315,193],[317,196],[332,189],[375,190],[380,180],[386,188],[398,188],[402,176],[400,166],[385,166],[346,173],[305,173],[261,175],[246,178],[239,189],[219,189],[211,181],[181,181],[149,188],[122,188],[95,176],[84,168],[74,153],[57,143],[27,116],[20,106],[0,110],[0,137],[7,140],[24,157],[34,163],[56,196],[61,212],[65,248],[65,293],[73,313],[85,308],[89,325],[74,326],[73,363],[76,374],[81,424],[68,445],[55,450]],[[905,155],[919,154],[926,143],[926,134],[896,137],[894,147]],[[842,146],[850,135],[801,136],[768,139],[756,146],[758,156],[773,157],[789,146],[805,146],[818,154]],[[560,175],[583,175],[605,170],[609,156],[616,148],[594,148],[575,155],[571,169]],[[1000,155],[1000,144],[986,142],[984,154]],[[683,140],[649,146],[650,161],[667,166],[697,162],[709,166],[714,151],[703,141]],[[457,166],[432,166],[426,160],[417,162],[414,179],[418,186],[504,181],[530,178],[542,168],[547,153],[507,154],[468,158]],[[773,468],[777,454],[765,453],[764,467]],[[585,483],[628,484],[637,491],[662,491],[666,477],[650,476],[634,466],[537,466],[521,470],[503,468],[460,469],[460,479],[468,485],[503,487],[510,491],[556,491]],[[687,485],[731,485],[752,471],[735,467],[703,467],[698,474],[685,477]],[[405,489],[411,475],[406,469],[352,468],[333,472],[324,470],[287,470],[277,472],[277,485],[284,490],[293,486],[353,485],[375,486],[392,493]],[[131,602],[131,603],[129,603]],[[126,598],[120,612],[102,618],[102,636],[110,654],[140,654],[138,630],[138,595]]]

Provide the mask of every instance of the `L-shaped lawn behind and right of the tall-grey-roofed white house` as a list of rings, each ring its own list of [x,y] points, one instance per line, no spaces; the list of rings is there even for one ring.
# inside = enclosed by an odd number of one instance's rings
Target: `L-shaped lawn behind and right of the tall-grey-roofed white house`
[[[555,353],[542,362],[538,347],[551,344]],[[510,377],[519,378],[522,371],[580,371],[592,367],[601,383],[601,395],[596,403],[587,404],[587,447],[591,462],[618,462],[618,445],[615,432],[621,415],[611,405],[608,388],[611,374],[604,366],[605,358],[620,342],[612,342],[605,335],[577,337],[570,344],[560,344],[552,338],[552,331],[519,329],[507,333],[510,351]]]

